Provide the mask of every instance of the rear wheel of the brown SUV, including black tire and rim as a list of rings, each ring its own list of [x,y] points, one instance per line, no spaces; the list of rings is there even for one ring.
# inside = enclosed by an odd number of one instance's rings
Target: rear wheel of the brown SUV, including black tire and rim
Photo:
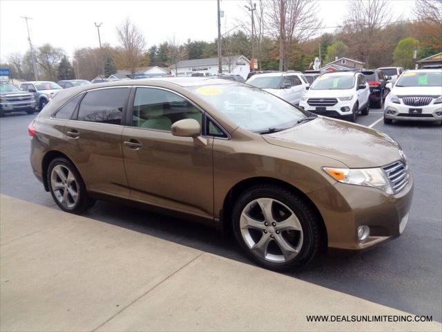
[[[77,168],[66,158],[55,158],[50,162],[47,179],[52,199],[61,210],[79,214],[95,203],[89,198]]]

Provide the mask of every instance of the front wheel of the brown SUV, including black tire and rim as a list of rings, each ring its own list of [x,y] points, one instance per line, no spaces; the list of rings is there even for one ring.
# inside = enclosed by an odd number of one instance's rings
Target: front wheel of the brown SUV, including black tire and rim
[[[271,207],[270,216],[262,212],[261,206]],[[271,270],[305,266],[323,248],[318,214],[305,199],[285,187],[249,188],[236,201],[232,221],[233,233],[243,250],[257,264]]]

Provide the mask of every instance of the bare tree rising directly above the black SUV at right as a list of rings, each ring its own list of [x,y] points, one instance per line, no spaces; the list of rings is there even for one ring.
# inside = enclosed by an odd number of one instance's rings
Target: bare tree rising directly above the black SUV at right
[[[367,65],[378,52],[377,37],[382,26],[391,21],[390,12],[387,0],[352,0],[349,3],[348,19],[343,30],[352,35],[352,53]]]

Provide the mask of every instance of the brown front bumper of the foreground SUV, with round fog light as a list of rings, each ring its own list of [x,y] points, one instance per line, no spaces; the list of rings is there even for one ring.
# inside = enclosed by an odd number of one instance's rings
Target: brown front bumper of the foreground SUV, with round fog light
[[[413,179],[401,192],[385,194],[374,187],[336,183],[308,194],[323,216],[328,246],[363,250],[401,235],[408,222],[413,197]],[[369,226],[370,235],[358,241],[358,226]]]

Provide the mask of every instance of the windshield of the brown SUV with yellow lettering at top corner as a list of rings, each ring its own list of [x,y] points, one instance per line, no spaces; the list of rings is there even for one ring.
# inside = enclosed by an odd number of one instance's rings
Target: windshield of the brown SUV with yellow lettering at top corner
[[[189,91],[250,131],[293,127],[305,113],[271,93],[242,84],[189,86]],[[275,130],[275,131],[276,131]]]

